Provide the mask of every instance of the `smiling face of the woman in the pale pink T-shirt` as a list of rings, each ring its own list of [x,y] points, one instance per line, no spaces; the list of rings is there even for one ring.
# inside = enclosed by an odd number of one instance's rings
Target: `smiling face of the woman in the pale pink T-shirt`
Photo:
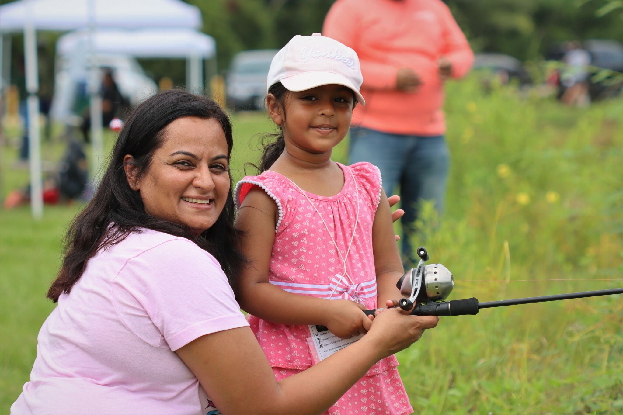
[[[219,121],[183,117],[166,126],[148,170],[128,182],[140,192],[146,213],[198,235],[214,225],[225,206],[231,187],[228,163]]]

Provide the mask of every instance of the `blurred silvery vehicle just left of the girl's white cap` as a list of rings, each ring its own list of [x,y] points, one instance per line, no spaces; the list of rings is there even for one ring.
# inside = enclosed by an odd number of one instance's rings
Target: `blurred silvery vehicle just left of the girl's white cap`
[[[261,110],[266,78],[276,49],[246,50],[235,54],[227,73],[227,106],[233,110]]]

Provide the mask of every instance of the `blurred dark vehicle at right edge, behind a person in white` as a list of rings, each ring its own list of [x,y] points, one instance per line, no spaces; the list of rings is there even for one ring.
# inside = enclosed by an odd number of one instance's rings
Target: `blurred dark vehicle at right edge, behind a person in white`
[[[549,50],[548,60],[563,60],[565,44],[556,45]],[[617,40],[591,39],[583,42],[582,47],[591,57],[591,76],[587,78],[588,93],[592,100],[617,96],[623,90],[623,44]],[[600,69],[612,70],[619,74],[595,77]],[[563,69],[556,69],[550,74],[548,82],[558,88],[558,97],[564,95],[567,86],[563,82]]]

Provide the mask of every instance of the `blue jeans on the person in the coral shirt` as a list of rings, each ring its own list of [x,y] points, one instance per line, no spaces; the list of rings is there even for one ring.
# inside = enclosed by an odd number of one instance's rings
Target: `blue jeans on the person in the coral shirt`
[[[406,266],[417,258],[411,243],[417,204],[434,200],[437,212],[444,208],[450,153],[444,136],[406,136],[368,128],[351,128],[350,162],[368,161],[381,170],[383,189],[390,196],[401,189],[402,261]],[[415,261],[417,263],[417,261]]]

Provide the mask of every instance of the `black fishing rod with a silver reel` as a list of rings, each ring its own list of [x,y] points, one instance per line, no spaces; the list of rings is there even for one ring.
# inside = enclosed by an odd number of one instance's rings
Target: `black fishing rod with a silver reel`
[[[426,261],[429,260],[429,254],[424,246],[417,248],[417,255],[420,257],[417,267],[410,269],[396,284],[401,294],[405,296],[398,301],[398,306],[406,311],[411,310],[411,315],[474,315],[478,314],[480,309],[492,307],[623,294],[623,288],[614,288],[488,302],[478,302],[475,297],[444,301],[454,288],[452,273],[442,264],[425,265]],[[373,314],[374,311],[365,310],[364,312]]]

